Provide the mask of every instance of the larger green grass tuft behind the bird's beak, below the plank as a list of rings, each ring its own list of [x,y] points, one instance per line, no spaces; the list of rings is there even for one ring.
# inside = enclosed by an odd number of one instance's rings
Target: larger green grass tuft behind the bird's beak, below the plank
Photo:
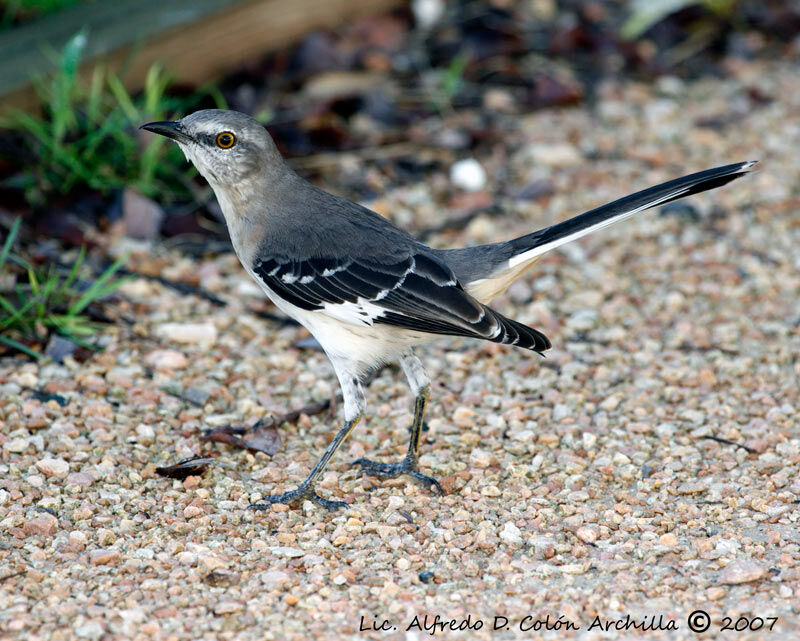
[[[14,158],[22,171],[7,186],[23,189],[34,206],[80,190],[107,194],[126,187],[167,204],[190,202],[193,170],[185,168],[180,151],[137,129],[191,108],[204,96],[219,106],[224,99],[211,89],[169,96],[171,79],[158,64],[149,69],[141,95],[131,95],[120,77],[102,66],[85,80],[79,69],[88,41],[87,30],[75,34],[53,54],[55,73],[35,82],[41,115],[8,110],[0,119],[0,127],[23,134],[21,158]]]

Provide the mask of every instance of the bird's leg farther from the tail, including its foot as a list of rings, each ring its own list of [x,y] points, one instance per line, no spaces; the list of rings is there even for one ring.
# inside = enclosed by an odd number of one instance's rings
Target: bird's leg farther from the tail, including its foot
[[[337,372],[338,373],[338,372]],[[300,484],[296,490],[290,490],[283,494],[268,496],[261,501],[261,503],[254,503],[250,505],[251,510],[268,510],[270,505],[275,503],[284,503],[292,505],[304,500],[313,501],[317,505],[321,505],[329,510],[336,510],[340,507],[346,507],[347,503],[344,501],[331,501],[319,496],[314,489],[314,483],[322,474],[328,461],[334,455],[339,446],[349,436],[350,432],[356,426],[358,421],[364,415],[364,408],[366,402],[364,400],[364,390],[361,388],[361,383],[358,378],[353,376],[339,376],[339,382],[342,385],[342,396],[344,397],[344,426],[328,445],[327,449],[320,457],[314,469],[311,470],[306,479]]]

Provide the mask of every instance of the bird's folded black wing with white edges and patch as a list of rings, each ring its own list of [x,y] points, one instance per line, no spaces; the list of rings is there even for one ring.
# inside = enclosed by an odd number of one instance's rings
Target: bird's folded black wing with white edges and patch
[[[255,274],[275,294],[343,322],[394,325],[431,334],[472,336],[541,351],[547,338],[485,307],[435,256],[404,258],[261,257]],[[532,335],[531,335],[532,334]]]

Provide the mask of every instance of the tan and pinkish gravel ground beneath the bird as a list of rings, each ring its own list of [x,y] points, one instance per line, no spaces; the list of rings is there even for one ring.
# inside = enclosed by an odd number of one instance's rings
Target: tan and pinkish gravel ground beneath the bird
[[[495,307],[550,336],[546,359],[459,339],[420,351],[436,381],[421,464],[442,497],[347,467],[405,449],[411,399],[387,368],[322,483],[350,507],[247,511],[306,475],[337,419],[285,425],[273,457],[199,430],[329,398],[332,370],[294,347],[302,328],[252,313],[264,304],[231,255],[140,249],[230,304],[135,280],[136,324],[89,362],[0,361],[0,637],[339,639],[362,617],[387,622],[368,639],[800,637],[800,76],[729,72],[605,83],[593,109],[509,115],[513,149],[477,158],[489,197],[503,175],[553,195],[503,200],[432,243],[508,238],[727,162],[762,168],[544,258]],[[435,225],[452,215],[436,195],[447,180],[372,206]],[[216,456],[201,477],[155,473],[196,453]],[[700,635],[694,610],[712,620]],[[426,615],[473,630],[424,629]],[[590,629],[627,615],[677,629]],[[720,633],[740,616],[778,621]]]

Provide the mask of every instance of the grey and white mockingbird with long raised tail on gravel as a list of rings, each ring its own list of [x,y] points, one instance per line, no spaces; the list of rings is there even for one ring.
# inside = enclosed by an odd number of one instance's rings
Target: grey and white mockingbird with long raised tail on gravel
[[[379,477],[406,474],[441,491],[417,469],[430,379],[413,347],[448,334],[543,352],[550,347],[544,334],[486,304],[545,252],[645,209],[720,187],[755,164],[684,176],[514,240],[432,249],[375,212],[306,182],[284,162],[264,127],[245,114],[209,109],[142,128],[178,143],[208,181],[245,270],[313,334],[342,387],[344,426],[311,473],[297,489],[267,497],[254,509],[305,499],[329,510],[346,505],[319,496],[315,481],[364,415],[361,377],[398,359],[416,396],[408,454],[398,463],[354,464]]]

